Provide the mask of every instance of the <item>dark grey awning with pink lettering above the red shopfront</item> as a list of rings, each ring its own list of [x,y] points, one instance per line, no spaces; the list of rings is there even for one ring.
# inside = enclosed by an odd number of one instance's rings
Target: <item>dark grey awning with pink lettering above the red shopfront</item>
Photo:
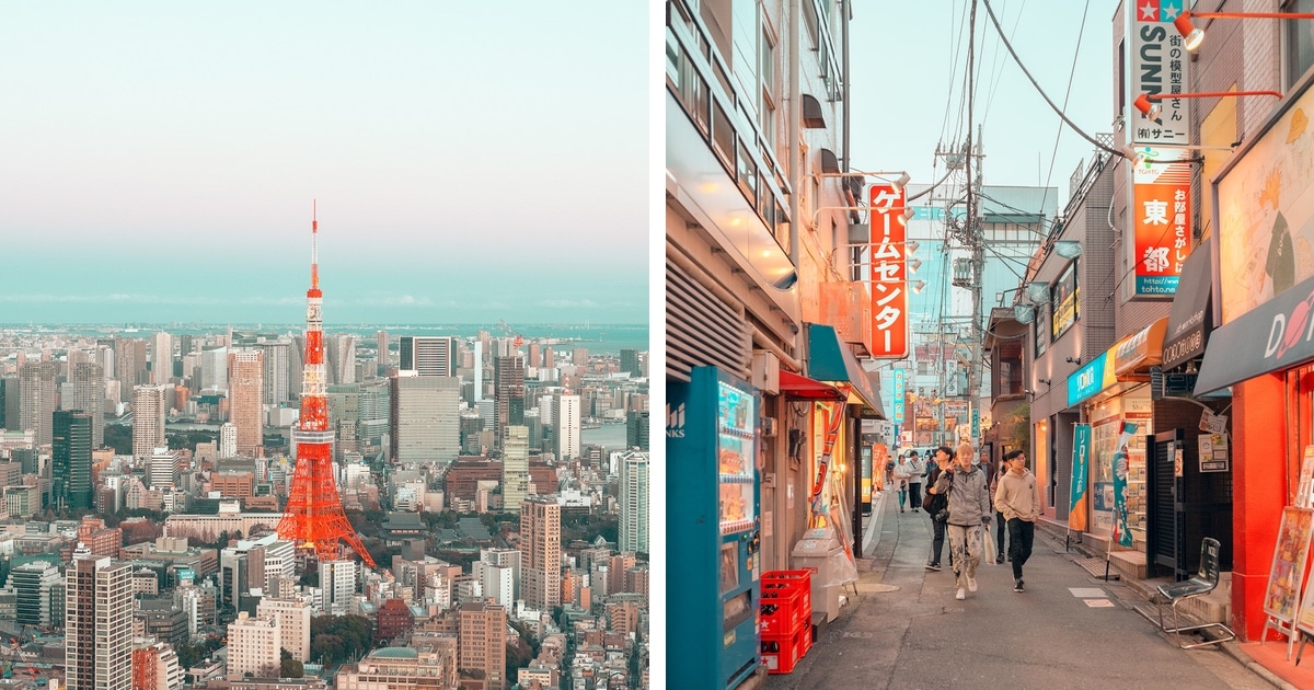
[[[1209,336],[1196,396],[1314,359],[1314,277],[1219,326]]]

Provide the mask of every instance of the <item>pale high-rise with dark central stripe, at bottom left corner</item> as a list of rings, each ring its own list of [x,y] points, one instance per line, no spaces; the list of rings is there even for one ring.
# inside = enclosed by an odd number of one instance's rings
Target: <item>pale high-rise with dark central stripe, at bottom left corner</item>
[[[68,690],[129,690],[131,652],[131,565],[75,552],[64,577]]]

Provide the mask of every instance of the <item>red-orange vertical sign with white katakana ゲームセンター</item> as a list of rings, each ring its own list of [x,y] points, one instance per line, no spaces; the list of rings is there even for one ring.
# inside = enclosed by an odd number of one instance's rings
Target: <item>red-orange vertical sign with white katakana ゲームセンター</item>
[[[908,229],[904,191],[872,184],[871,209],[871,356],[908,356]]]

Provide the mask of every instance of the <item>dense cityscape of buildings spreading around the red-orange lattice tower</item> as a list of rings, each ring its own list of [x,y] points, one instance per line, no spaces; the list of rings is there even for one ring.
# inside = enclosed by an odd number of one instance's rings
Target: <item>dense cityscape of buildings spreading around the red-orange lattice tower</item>
[[[645,687],[646,329],[434,330],[0,329],[5,682]]]

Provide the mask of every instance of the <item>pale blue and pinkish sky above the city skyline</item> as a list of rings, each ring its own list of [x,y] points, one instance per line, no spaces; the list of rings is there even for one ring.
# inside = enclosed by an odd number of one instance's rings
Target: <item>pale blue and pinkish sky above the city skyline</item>
[[[644,3],[0,4],[0,323],[648,319]]]

